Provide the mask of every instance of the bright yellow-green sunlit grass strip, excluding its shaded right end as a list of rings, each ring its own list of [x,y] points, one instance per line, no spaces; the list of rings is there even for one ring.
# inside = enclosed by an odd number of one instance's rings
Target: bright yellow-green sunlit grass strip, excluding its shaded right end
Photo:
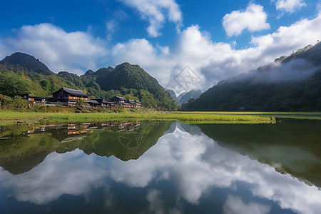
[[[275,123],[275,118],[254,115],[227,115],[206,113],[21,113],[0,112],[0,125],[16,121],[186,121],[188,123]]]

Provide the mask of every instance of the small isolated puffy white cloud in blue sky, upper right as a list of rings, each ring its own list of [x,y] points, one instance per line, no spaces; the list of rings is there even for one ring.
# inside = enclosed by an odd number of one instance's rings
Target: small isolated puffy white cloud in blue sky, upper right
[[[233,11],[223,17],[223,28],[228,36],[238,36],[243,30],[260,31],[270,29],[270,24],[266,22],[267,14],[263,11],[263,6],[249,4],[245,11]]]

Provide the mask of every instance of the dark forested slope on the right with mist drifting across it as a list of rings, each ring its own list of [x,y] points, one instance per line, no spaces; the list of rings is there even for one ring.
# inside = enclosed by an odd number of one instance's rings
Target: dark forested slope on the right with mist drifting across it
[[[188,111],[235,111],[240,107],[245,111],[321,111],[321,43],[220,81],[182,106]]]

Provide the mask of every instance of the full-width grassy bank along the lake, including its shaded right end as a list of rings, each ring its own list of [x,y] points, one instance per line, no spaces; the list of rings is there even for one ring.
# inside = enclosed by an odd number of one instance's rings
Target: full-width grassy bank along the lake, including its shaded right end
[[[45,119],[44,119],[45,118]],[[278,118],[321,119],[321,113],[297,112],[159,112],[39,113],[0,111],[0,125],[26,122],[183,121],[185,123],[275,123]]]

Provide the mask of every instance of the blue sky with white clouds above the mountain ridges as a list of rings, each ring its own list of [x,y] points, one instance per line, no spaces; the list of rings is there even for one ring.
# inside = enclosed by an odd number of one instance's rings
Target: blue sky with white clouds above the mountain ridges
[[[56,73],[78,75],[128,61],[178,93],[204,91],[315,44],[321,38],[320,5],[312,0],[1,1],[0,58],[21,51]],[[177,77],[184,77],[186,66],[198,83],[184,89]]]

